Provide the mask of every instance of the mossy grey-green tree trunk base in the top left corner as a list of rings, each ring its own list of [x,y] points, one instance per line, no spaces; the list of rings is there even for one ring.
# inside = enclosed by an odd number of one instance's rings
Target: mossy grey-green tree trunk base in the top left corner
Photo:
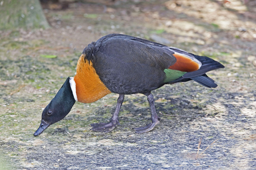
[[[0,29],[48,27],[39,0],[0,0]]]

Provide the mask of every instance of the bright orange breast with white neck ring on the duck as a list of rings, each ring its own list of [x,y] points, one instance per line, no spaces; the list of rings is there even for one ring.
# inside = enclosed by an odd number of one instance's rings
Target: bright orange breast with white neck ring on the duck
[[[82,103],[92,103],[111,93],[83,54],[77,62],[76,76],[70,77],[69,83],[75,100]]]

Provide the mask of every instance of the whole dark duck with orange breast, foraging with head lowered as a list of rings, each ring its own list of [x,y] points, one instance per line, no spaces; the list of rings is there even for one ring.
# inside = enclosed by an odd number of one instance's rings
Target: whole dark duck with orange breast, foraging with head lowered
[[[77,61],[76,75],[66,79],[44,108],[34,136],[62,120],[76,101],[92,103],[110,93],[119,94],[110,122],[92,123],[91,130],[107,133],[115,129],[120,125],[118,114],[124,95],[141,93],[147,96],[151,122],[134,130],[136,133],[149,132],[160,122],[151,91],[190,80],[215,88],[217,84],[206,72],[219,68],[224,66],[209,57],[179,48],[124,34],[103,36],[84,48]]]

